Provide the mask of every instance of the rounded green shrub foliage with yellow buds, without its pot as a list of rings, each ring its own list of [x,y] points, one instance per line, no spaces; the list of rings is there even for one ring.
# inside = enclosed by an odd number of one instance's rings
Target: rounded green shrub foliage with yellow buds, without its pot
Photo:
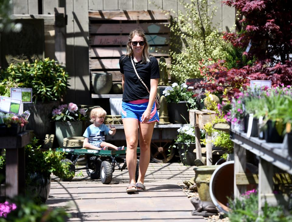
[[[60,100],[68,89],[68,79],[65,68],[54,59],[35,60],[32,64],[11,64],[1,72],[0,93],[10,96],[9,87],[18,86],[32,88],[35,102]]]

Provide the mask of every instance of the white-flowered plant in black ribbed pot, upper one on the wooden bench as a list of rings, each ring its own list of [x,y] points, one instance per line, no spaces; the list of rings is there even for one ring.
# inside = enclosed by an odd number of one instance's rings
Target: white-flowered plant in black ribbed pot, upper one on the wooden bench
[[[171,123],[189,123],[189,109],[196,108],[196,98],[192,91],[192,86],[182,83],[172,83],[163,90],[163,95],[167,102],[169,122]]]

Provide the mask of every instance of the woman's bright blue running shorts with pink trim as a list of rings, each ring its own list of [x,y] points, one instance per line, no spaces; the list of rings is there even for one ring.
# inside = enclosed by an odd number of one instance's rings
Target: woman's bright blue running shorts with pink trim
[[[137,119],[139,122],[142,122],[142,115],[148,106],[148,101],[148,99],[142,99],[130,102],[122,102],[122,119]],[[148,123],[155,121],[159,122],[159,117],[156,110],[156,104],[154,102]]]

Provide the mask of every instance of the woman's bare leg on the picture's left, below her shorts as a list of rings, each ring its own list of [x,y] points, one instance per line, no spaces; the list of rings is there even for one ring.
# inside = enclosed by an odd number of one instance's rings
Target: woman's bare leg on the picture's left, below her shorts
[[[126,161],[130,183],[136,183],[135,172],[137,166],[138,120],[123,119],[124,131],[127,140]],[[131,188],[131,187],[130,187]]]

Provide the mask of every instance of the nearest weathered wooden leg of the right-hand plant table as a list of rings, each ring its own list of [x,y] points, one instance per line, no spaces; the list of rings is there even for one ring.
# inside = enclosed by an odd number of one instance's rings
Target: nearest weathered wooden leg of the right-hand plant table
[[[259,215],[262,213],[262,194],[273,193],[273,164],[259,158]]]

